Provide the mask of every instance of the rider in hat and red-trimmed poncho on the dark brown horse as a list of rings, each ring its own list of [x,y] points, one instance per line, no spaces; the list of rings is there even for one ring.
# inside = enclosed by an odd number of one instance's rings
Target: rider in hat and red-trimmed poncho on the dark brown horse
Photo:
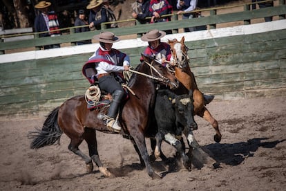
[[[113,97],[107,116],[99,113],[97,117],[106,123],[109,130],[119,132],[121,127],[117,122],[117,113],[120,102],[125,96],[125,91],[120,82],[124,82],[123,71],[128,71],[130,68],[130,59],[125,53],[112,48],[114,42],[120,41],[113,33],[102,32],[93,38],[99,41],[100,46],[86,64],[94,64],[99,88],[111,93]],[[90,83],[94,82],[94,80],[88,80]]]

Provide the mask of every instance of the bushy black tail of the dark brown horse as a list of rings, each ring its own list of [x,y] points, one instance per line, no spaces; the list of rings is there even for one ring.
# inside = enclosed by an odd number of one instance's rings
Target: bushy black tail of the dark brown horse
[[[37,131],[30,131],[28,133],[28,138],[33,139],[30,145],[31,149],[39,149],[44,146],[53,145],[57,140],[59,144],[59,138],[61,138],[63,132],[59,129],[59,124],[57,123],[58,111],[59,107],[49,113],[42,129],[36,128]]]

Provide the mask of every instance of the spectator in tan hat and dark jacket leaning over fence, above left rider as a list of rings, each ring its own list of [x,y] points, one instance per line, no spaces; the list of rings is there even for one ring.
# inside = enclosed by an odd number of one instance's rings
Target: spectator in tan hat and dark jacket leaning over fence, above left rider
[[[88,19],[90,30],[101,30],[102,26],[100,24],[108,22],[106,9],[103,8],[102,3],[102,0],[92,0],[88,6],[86,6],[86,8],[90,10]],[[107,28],[110,27],[109,24]]]

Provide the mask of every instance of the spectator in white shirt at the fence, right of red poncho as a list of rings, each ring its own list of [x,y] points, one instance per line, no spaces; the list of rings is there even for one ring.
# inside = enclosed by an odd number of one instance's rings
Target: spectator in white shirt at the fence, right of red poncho
[[[198,0],[178,0],[177,1],[177,8],[178,8],[178,14],[189,12],[197,9]],[[189,12],[184,13],[182,15],[182,19],[192,19],[201,17],[200,12]],[[192,32],[196,30],[206,30],[207,26],[194,26],[194,27],[188,27],[184,28],[184,32]]]

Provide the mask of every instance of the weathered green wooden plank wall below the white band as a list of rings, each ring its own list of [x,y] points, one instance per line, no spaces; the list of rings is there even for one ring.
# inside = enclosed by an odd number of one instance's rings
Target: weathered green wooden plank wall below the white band
[[[186,42],[201,91],[216,100],[286,96],[286,29]],[[122,49],[139,63],[144,47]],[[92,53],[0,64],[0,119],[46,116],[89,86]]]

